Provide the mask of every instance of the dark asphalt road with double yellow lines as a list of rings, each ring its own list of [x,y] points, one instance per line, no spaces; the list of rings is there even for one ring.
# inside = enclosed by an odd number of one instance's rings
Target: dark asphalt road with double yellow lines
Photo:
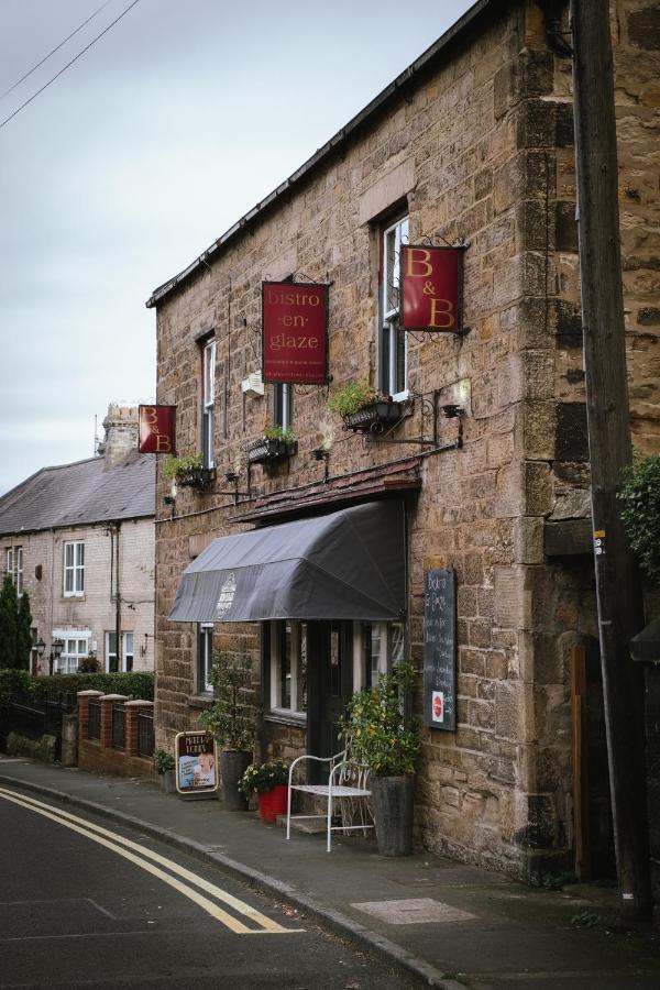
[[[0,791],[0,987],[416,986],[206,864]]]

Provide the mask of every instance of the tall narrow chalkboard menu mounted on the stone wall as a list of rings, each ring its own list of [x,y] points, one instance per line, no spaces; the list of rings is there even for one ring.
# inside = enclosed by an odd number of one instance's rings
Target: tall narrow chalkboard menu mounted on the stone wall
[[[457,579],[453,570],[425,573],[424,724],[457,727]]]

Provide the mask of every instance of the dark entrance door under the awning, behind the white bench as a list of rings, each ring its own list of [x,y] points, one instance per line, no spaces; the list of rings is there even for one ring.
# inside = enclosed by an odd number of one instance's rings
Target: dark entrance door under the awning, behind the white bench
[[[309,752],[330,757],[343,749],[339,719],[353,693],[353,628],[348,622],[309,623],[307,739]],[[311,761],[315,783],[328,771]]]

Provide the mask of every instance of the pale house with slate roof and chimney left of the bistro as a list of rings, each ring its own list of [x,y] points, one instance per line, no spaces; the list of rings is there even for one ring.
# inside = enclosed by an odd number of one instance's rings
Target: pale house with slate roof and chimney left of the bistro
[[[34,673],[153,670],[155,466],[138,408],[110,405],[101,457],[42,468],[0,498],[0,560],[30,594]],[[119,650],[117,645],[119,642]]]

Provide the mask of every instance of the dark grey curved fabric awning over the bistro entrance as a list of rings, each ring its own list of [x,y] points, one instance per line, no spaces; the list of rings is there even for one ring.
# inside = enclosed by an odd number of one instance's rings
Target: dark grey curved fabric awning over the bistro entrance
[[[405,607],[405,512],[388,501],[213,540],[184,572],[169,618],[375,622]]]

